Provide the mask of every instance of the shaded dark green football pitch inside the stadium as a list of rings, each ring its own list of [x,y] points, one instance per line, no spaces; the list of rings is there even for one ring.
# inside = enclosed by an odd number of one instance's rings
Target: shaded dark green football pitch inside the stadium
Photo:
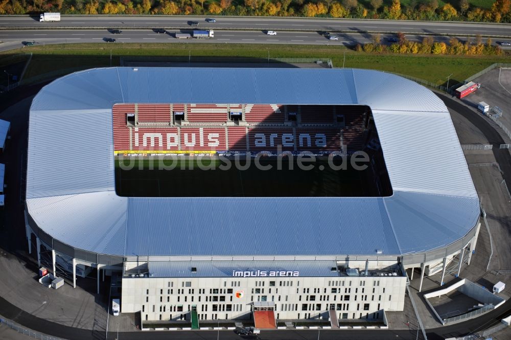
[[[382,196],[370,166],[356,170],[346,163],[299,162],[296,157],[262,157],[257,164],[245,157],[238,162],[218,157],[125,158],[115,161],[115,190],[128,197]]]

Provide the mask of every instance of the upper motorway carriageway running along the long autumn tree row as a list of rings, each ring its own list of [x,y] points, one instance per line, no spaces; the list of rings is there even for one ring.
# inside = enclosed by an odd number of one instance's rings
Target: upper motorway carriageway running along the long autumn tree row
[[[78,15],[62,16],[59,22],[39,22],[38,16],[0,16],[0,28],[190,28],[198,21],[198,28],[242,30],[299,30],[337,32],[404,32],[417,34],[487,35],[511,37],[511,25],[480,24],[474,22],[442,22],[412,20],[357,20],[327,18],[265,18],[214,17],[215,23],[205,17],[193,16],[125,16]]]

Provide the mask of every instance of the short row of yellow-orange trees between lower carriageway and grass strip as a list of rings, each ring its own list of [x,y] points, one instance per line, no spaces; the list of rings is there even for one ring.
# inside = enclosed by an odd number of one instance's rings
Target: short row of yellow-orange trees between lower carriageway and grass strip
[[[487,39],[483,44],[482,38],[478,35],[475,41],[467,38],[466,41],[459,41],[451,38],[449,44],[435,42],[433,37],[424,37],[422,42],[409,41],[403,33],[398,33],[399,42],[389,47],[381,43],[380,34],[373,35],[373,42],[364,46],[357,45],[356,51],[376,53],[401,53],[401,54],[453,54],[453,55],[502,55],[503,51],[498,46],[492,45],[492,39]]]

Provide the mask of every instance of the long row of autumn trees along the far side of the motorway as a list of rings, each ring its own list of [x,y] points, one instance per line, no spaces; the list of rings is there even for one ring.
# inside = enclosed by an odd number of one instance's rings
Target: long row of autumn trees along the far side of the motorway
[[[392,0],[0,0],[0,14],[25,14],[60,11],[63,14],[166,14],[166,15],[259,15],[335,18],[470,20],[511,22],[511,0],[495,0],[490,10],[471,7],[469,0],[452,0],[438,5],[438,0],[411,0],[402,6]]]

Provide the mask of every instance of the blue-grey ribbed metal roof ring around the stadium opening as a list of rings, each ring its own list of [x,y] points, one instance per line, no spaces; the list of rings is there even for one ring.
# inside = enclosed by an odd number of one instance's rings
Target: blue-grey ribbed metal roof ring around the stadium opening
[[[368,105],[393,195],[119,197],[115,103]],[[112,67],[57,79],[30,109],[27,208],[53,238],[121,256],[402,255],[446,246],[479,217],[444,103],[415,82],[355,69]]]

